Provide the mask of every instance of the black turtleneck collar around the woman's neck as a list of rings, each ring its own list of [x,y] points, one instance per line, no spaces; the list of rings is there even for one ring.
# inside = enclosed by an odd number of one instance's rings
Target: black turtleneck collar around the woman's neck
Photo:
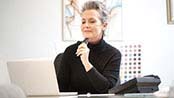
[[[104,47],[105,41],[101,39],[98,43],[96,44],[90,44],[88,43],[88,48],[90,50],[95,50],[95,49],[102,49]]]

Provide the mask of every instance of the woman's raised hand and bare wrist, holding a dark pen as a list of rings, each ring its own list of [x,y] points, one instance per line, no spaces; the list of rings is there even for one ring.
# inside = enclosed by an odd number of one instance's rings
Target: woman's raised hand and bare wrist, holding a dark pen
[[[87,47],[87,44],[82,42],[76,51],[76,55],[80,56],[80,59],[82,61],[82,64],[85,67],[86,72],[88,72],[93,66],[89,62],[89,48]]]

